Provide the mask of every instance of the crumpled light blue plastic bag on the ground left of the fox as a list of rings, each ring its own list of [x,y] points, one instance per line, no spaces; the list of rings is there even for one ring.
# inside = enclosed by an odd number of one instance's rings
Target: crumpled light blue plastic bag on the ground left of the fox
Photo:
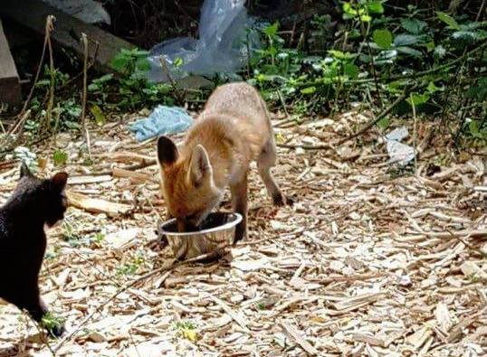
[[[136,121],[129,129],[140,142],[155,136],[181,133],[192,123],[193,118],[184,108],[158,106],[148,117]]]

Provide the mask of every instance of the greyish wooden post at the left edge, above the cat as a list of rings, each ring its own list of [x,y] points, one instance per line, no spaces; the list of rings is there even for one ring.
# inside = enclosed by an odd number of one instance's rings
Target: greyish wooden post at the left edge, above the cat
[[[19,74],[6,41],[0,19],[0,103],[17,106],[22,102]]]

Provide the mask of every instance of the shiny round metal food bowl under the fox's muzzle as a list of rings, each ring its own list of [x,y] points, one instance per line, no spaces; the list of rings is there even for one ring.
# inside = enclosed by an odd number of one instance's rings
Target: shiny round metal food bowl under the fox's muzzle
[[[194,258],[222,249],[234,242],[235,227],[242,221],[236,212],[210,213],[201,224],[201,230],[179,232],[176,219],[160,223],[159,236],[166,236],[177,259]]]

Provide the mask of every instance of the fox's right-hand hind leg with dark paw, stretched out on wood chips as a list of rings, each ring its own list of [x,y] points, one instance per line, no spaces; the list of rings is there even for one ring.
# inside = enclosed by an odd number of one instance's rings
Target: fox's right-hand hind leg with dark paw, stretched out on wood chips
[[[274,177],[271,173],[271,168],[276,163],[276,146],[274,142],[274,136],[272,133],[271,138],[265,146],[263,146],[263,151],[261,155],[257,158],[257,167],[259,169],[259,174],[263,178],[263,183],[267,189],[267,193],[272,197],[272,202],[276,206],[282,206],[286,204],[286,199],[282,195],[281,190],[275,183]]]

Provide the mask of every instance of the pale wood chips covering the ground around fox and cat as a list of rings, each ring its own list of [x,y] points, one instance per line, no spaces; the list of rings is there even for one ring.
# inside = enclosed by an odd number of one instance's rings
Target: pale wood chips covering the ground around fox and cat
[[[279,142],[316,146],[364,120],[274,122]],[[72,334],[45,341],[0,303],[0,356],[487,353],[485,153],[454,160],[433,140],[415,174],[387,164],[377,132],[337,150],[280,148],[274,174],[294,204],[272,207],[254,170],[250,239],[218,262],[170,268],[154,242],[165,217],[155,142],[120,122],[91,136],[91,162],[69,134],[36,148],[44,174],[58,170],[54,146],[69,154],[73,207],[50,231],[41,280]],[[0,202],[17,177],[16,162],[0,164]]]

